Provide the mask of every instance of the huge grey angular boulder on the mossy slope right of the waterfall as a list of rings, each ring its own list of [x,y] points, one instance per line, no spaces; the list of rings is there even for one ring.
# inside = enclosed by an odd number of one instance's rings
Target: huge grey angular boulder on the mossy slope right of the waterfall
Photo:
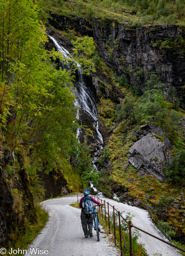
[[[172,159],[171,151],[167,149],[163,138],[154,133],[149,133],[138,140],[130,148],[128,156],[128,161],[133,167],[154,175],[161,182],[166,179],[162,169],[168,159]]]

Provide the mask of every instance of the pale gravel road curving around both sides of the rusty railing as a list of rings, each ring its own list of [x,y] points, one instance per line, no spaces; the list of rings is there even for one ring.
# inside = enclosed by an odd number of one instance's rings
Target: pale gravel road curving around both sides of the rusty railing
[[[50,199],[42,202],[42,205],[49,210],[49,221],[29,248],[48,250],[49,256],[117,256],[120,255],[117,248],[100,234],[100,241],[93,230],[93,238],[84,238],[80,221],[80,209],[69,206],[77,200],[76,195],[68,195],[62,198]],[[111,205],[123,213],[128,212],[134,215],[133,224],[141,229],[162,237],[154,224],[148,218],[148,213],[137,207],[125,205],[114,200],[108,200]],[[110,207],[111,208],[111,207]],[[141,232],[140,232],[141,233]],[[164,237],[162,237],[164,239]],[[180,256],[176,249],[161,241],[141,233],[140,242],[145,244],[149,256],[161,253],[162,256]],[[35,254],[35,253],[34,253]],[[38,253],[36,253],[37,255]],[[27,255],[31,255],[29,250]],[[157,254],[156,254],[157,255]]]

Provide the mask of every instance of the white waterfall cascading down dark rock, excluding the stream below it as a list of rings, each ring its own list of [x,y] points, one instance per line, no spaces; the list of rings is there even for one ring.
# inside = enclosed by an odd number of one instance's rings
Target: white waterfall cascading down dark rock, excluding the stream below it
[[[70,53],[65,48],[60,46],[52,36],[48,35],[48,37],[54,42],[57,51],[62,52],[65,58],[72,59]],[[97,132],[97,136],[96,136],[97,138],[95,138],[94,136],[93,137],[97,143],[102,144],[103,138],[101,133],[99,132],[99,127],[98,127],[98,112],[96,108],[96,102],[92,97],[90,90],[86,86],[86,82],[84,81],[83,74],[81,73],[81,66],[79,63],[77,63],[77,67],[78,67],[79,81],[74,84],[76,88],[74,93],[76,94],[76,97],[77,97],[75,106],[79,106],[80,109],[83,109],[84,112],[86,112],[88,115],[92,117],[92,119],[94,120],[93,127]],[[79,112],[77,112],[77,118],[79,119]],[[77,137],[79,136],[80,132],[81,132],[81,129],[80,128],[77,129]]]

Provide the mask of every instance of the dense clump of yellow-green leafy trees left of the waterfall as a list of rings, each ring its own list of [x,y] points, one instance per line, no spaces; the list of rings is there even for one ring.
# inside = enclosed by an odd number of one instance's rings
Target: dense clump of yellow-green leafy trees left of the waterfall
[[[51,170],[76,140],[75,95],[66,86],[70,72],[56,70],[50,59],[62,54],[43,47],[40,5],[17,3],[0,0],[0,127],[12,146],[24,146],[31,165]]]

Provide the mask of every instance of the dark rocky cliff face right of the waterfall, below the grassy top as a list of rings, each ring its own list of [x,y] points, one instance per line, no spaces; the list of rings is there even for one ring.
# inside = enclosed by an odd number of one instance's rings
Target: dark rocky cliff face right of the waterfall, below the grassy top
[[[119,75],[126,74],[130,83],[136,84],[141,91],[150,75],[156,73],[165,84],[165,95],[170,86],[175,87],[178,95],[183,98],[184,108],[185,63],[180,43],[168,49],[160,49],[153,44],[156,40],[159,44],[159,40],[178,41],[179,37],[184,40],[184,27],[155,25],[133,28],[126,23],[112,23],[108,20],[101,22],[96,18],[90,23],[80,17],[69,19],[54,14],[51,14],[49,23],[59,30],[70,27],[82,35],[93,36],[106,64]],[[112,42],[107,44],[109,36],[112,36]]]

